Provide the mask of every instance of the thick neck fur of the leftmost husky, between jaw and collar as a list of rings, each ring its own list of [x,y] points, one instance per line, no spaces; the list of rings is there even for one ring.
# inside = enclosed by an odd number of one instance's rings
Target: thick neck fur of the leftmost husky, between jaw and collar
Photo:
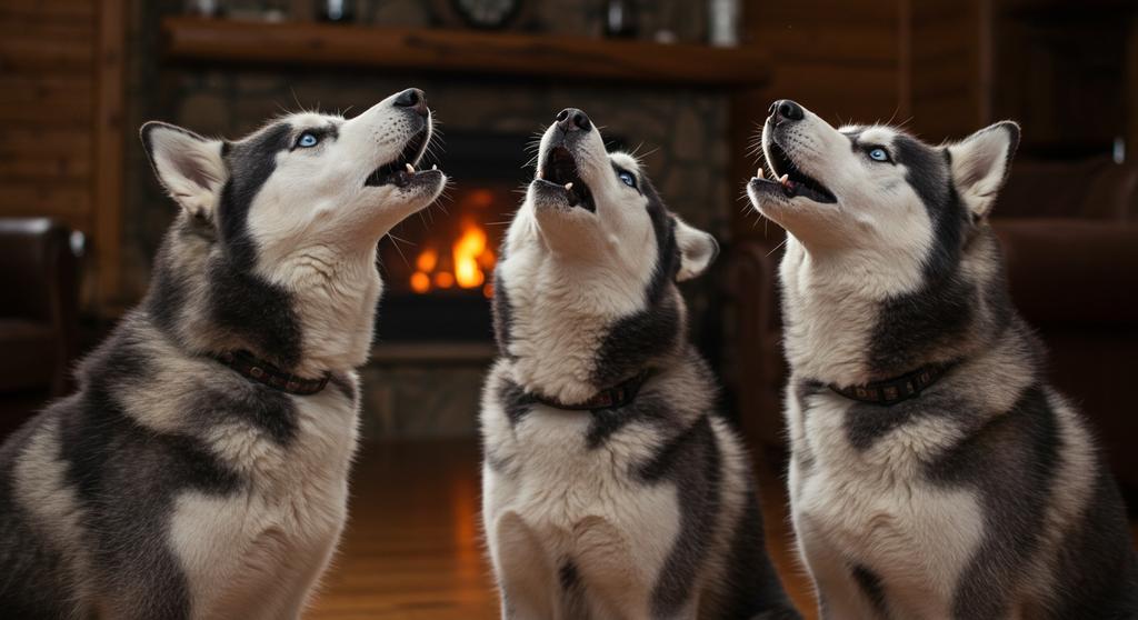
[[[142,307],[189,355],[244,349],[306,378],[366,361],[381,291],[374,246],[304,248],[269,267],[238,263],[208,223],[183,213]]]

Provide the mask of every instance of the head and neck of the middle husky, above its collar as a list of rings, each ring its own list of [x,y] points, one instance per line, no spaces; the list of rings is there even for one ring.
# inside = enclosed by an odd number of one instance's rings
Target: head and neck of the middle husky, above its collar
[[[675,282],[717,253],[634,157],[608,152],[584,111],[562,110],[496,270],[495,328],[514,380],[579,403],[671,354],[685,313]]]

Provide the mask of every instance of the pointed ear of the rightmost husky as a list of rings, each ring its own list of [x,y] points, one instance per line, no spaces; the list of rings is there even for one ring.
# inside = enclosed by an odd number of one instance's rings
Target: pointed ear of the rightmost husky
[[[973,217],[979,220],[991,210],[1012,170],[1012,156],[1017,146],[1020,125],[1003,121],[948,147],[953,158],[953,182]]]

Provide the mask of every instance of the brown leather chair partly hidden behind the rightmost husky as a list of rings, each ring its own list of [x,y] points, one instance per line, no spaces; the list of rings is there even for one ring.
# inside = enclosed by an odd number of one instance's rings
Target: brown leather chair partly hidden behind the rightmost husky
[[[1138,164],[1024,163],[992,221],[1012,297],[1049,349],[1055,386],[1088,415],[1138,507]],[[786,450],[776,249],[783,233],[740,243],[731,263],[739,373],[733,391],[753,449]]]

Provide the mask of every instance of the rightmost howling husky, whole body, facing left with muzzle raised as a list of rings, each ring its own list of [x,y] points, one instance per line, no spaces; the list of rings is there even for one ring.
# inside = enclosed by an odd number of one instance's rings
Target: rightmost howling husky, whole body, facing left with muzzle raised
[[[1125,511],[989,223],[1013,122],[929,146],[776,101],[791,515],[823,618],[1138,617]]]

